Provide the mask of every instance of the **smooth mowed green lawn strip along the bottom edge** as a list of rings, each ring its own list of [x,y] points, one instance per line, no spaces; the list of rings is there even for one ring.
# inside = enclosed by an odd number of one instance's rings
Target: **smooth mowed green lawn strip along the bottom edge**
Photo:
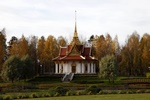
[[[28,100],[150,100],[150,94],[63,96],[63,97],[49,97],[49,98],[33,98]]]

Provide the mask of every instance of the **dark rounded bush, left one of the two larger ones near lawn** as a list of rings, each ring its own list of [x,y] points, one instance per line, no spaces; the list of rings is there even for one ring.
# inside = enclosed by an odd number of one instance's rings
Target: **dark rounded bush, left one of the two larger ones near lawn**
[[[64,96],[67,91],[68,89],[58,86],[56,88],[51,89],[49,92],[51,96],[56,96],[57,93],[58,93],[57,95]]]

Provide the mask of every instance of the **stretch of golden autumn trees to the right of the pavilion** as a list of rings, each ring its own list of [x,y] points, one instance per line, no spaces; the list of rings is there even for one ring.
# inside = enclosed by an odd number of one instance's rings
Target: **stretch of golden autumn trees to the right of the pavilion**
[[[106,55],[114,55],[118,75],[145,76],[150,70],[150,34],[145,33],[140,37],[137,32],[133,32],[123,46],[120,46],[117,36],[112,40],[109,34],[92,36],[93,40],[94,53],[99,61]]]

